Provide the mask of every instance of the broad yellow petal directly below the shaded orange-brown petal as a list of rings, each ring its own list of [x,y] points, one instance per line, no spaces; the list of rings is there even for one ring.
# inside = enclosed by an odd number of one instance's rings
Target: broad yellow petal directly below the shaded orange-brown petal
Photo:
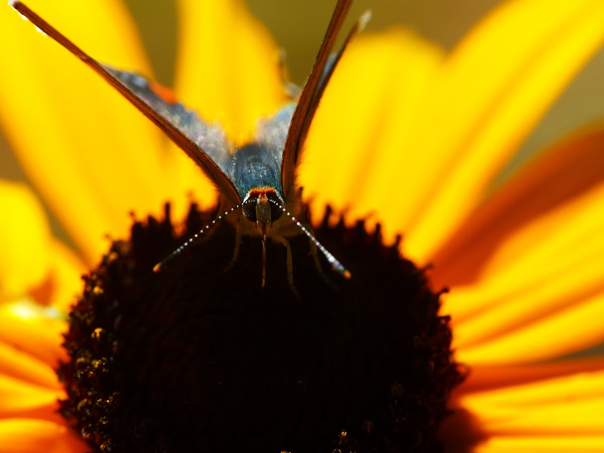
[[[454,317],[457,345],[495,338],[596,297],[604,289],[603,203],[600,184],[536,217],[500,243],[478,283],[452,289],[443,309]]]

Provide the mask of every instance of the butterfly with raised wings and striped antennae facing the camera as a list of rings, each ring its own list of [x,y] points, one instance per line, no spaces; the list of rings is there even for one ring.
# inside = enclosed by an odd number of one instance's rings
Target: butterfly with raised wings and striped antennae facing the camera
[[[255,223],[257,231],[262,235],[263,287],[266,280],[267,230],[283,213],[309,237],[336,272],[350,278],[350,272],[289,213],[286,206],[295,207],[299,202],[300,189],[295,183],[297,165],[323,92],[345,47],[369,18],[368,13],[365,13],[345,38],[344,44],[332,54],[336,36],[351,4],[352,0],[337,1],[315,64],[297,102],[286,104],[272,117],[260,121],[254,140],[236,147],[229,143],[219,125],[208,124],[196,112],[185,108],[169,89],[150,82],[135,72],[121,71],[97,62],[27,5],[21,1],[11,2],[11,6],[40,31],[94,69],[193,159],[216,186],[221,205],[228,208],[216,220],[240,208],[243,216]],[[159,262],[154,270],[161,270],[165,263],[178,255],[209,226]],[[291,270],[288,273],[291,276]]]

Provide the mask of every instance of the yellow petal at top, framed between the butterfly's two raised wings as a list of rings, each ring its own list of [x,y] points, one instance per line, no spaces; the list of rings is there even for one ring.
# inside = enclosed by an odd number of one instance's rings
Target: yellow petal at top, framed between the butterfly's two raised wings
[[[251,137],[259,118],[286,100],[277,45],[240,0],[180,0],[176,91],[231,140]]]

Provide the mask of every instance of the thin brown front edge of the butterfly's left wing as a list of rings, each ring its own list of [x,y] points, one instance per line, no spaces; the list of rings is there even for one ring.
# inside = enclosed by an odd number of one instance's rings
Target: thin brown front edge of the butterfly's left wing
[[[69,52],[74,54],[74,56],[78,57],[90,68],[94,69],[94,71],[103,77],[104,80],[110,83],[127,100],[129,100],[133,106],[141,111],[143,115],[149,118],[149,120],[153,121],[153,123],[155,123],[159,129],[164,131],[165,135],[167,135],[170,140],[172,140],[178,147],[187,153],[187,155],[201,168],[205,175],[208,176],[211,181],[213,181],[220,191],[220,194],[226,198],[226,201],[228,201],[228,204],[237,205],[240,203],[239,194],[237,194],[237,190],[230,179],[228,179],[222,170],[220,170],[217,165],[214,164],[214,162],[207,155],[205,155],[203,150],[199,149],[199,147],[190,138],[184,135],[184,133],[178,130],[178,128],[176,128],[172,123],[161,117],[161,115],[159,115],[153,109],[150,109],[143,100],[133,94],[129,89],[126,88],[126,86],[122,85],[122,83],[115,79],[114,76],[109,74],[109,72],[104,69],[100,63],[92,59],[92,57],[77,47],[62,33],[57,31],[56,28],[52,27],[44,19],[40,18],[40,16],[34,13],[34,11],[27,7],[27,5],[19,1],[14,1],[10,5],[17,10],[19,14],[27,18],[28,21],[36,25],[36,27],[43,31],[43,33],[50,36],[57,43],[65,47]]]

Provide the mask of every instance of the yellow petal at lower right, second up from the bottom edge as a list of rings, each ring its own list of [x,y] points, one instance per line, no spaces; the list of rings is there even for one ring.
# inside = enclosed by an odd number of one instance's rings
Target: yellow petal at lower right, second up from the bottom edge
[[[604,371],[466,394],[459,405],[489,435],[600,435]]]

